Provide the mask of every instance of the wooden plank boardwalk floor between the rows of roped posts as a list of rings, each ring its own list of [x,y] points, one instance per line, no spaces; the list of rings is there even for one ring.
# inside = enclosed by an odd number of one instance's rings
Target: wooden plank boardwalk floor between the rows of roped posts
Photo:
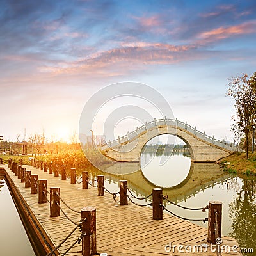
[[[26,200],[29,208],[36,216],[40,225],[49,236],[53,245],[58,245],[75,227],[61,213],[59,217],[50,217],[49,203],[38,204],[38,195],[31,195],[30,188],[24,188],[24,183],[17,179],[7,165],[2,165],[6,170],[6,179],[12,180],[13,186],[20,191],[20,195]],[[97,215],[97,254],[108,253],[113,256],[153,256],[153,255],[216,255],[210,248],[203,248],[203,252],[193,252],[193,246],[200,246],[207,243],[207,229],[199,227],[189,221],[180,220],[169,214],[164,214],[163,220],[152,220],[152,209],[150,207],[138,207],[129,202],[128,205],[120,206],[113,200],[112,195],[105,193],[105,196],[97,196],[97,188],[89,185],[88,189],[82,189],[81,184],[70,184],[70,180],[61,180],[60,177],[48,174],[31,166],[24,166],[31,170],[32,174],[38,174],[38,179],[47,179],[47,189],[60,187],[61,198],[73,209],[80,211],[84,206],[96,207]],[[10,182],[9,182],[10,183]],[[80,220],[80,214],[71,211],[61,202],[61,208],[67,216],[76,223]],[[70,236],[66,243],[60,246],[60,253],[76,241],[80,232]],[[237,241],[224,236],[223,244],[239,247]],[[172,243],[176,246],[183,246],[184,252],[178,252],[177,247],[171,252],[166,252]],[[191,246],[192,252],[186,252]],[[165,250],[166,247],[166,250]],[[67,255],[81,255],[81,244],[72,248]],[[174,252],[173,252],[174,251]],[[241,255],[240,252],[223,252],[222,255]]]

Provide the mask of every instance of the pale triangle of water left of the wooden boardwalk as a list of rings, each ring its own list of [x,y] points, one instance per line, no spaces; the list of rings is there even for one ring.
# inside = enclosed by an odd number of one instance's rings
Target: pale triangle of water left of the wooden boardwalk
[[[3,256],[34,256],[33,248],[3,179],[1,179],[0,187],[0,254]]]

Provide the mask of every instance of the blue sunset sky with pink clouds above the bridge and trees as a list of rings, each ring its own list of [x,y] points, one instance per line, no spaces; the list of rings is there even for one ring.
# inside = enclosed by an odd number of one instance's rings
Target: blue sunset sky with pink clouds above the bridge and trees
[[[254,0],[0,0],[0,24],[0,134],[10,141],[24,129],[68,140],[93,93],[123,81],[151,86],[175,118],[232,141],[227,79],[256,71]]]

